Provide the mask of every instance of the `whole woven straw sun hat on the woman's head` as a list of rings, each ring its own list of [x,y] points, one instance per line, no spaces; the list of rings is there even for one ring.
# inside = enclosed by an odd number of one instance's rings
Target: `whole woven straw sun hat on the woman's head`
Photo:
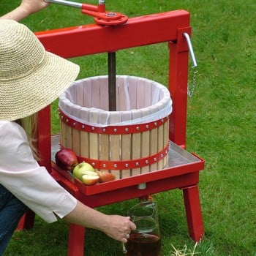
[[[79,67],[45,51],[23,24],[0,20],[0,120],[45,108],[75,80]]]

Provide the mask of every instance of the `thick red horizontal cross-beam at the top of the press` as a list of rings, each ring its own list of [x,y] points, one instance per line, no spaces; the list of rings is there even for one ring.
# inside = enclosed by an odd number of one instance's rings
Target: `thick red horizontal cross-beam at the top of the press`
[[[175,41],[180,28],[189,28],[189,12],[184,10],[129,18],[121,26],[89,24],[36,34],[47,50],[71,58]]]

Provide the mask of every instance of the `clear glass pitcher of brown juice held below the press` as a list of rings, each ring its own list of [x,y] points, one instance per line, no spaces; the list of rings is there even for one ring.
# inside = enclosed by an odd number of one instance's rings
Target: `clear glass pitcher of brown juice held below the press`
[[[132,231],[125,244],[127,256],[160,256],[157,204],[151,201],[138,203],[129,209],[128,216],[135,223],[136,230]]]

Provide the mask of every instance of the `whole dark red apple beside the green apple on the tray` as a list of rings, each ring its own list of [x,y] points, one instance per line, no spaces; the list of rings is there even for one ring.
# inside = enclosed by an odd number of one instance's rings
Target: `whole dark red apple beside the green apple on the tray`
[[[78,158],[74,151],[70,148],[61,148],[55,154],[56,165],[64,170],[73,170],[75,165],[78,165]]]

